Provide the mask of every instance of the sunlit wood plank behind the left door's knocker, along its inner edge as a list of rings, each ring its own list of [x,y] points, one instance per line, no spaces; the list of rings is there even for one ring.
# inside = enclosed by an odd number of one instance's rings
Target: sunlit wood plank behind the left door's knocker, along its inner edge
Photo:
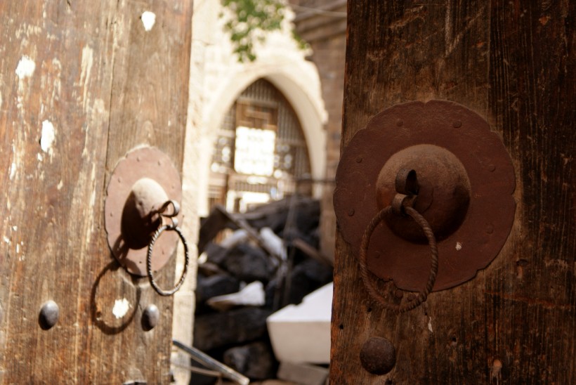
[[[155,15],[155,24],[148,31],[141,20],[145,12]],[[106,184],[119,159],[139,145],[159,148],[181,169],[188,109],[191,13],[189,1],[126,0],[118,4],[112,21],[117,33],[112,42]],[[107,250],[105,243],[102,247]],[[92,287],[97,310],[86,366],[122,381],[140,378],[166,383],[173,299],[159,296],[148,278],[132,277],[115,262],[107,265],[110,258],[113,257],[107,252],[102,262],[95,262],[100,281]],[[173,285],[175,262],[173,257],[157,273],[161,287]],[[124,298],[131,304],[130,315],[119,321],[112,310],[116,301]],[[159,327],[144,332],[140,320],[148,304],[155,304],[161,317]],[[103,349],[111,349],[114,357],[93,354]]]

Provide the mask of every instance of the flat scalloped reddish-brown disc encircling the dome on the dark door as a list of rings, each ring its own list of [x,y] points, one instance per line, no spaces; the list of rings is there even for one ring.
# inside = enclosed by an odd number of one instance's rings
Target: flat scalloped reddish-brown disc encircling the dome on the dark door
[[[460,285],[488,266],[513,224],[512,162],[498,134],[480,115],[445,100],[394,105],[375,115],[343,150],[336,171],[334,210],[343,239],[358,256],[362,235],[381,209],[376,185],[382,167],[397,152],[423,144],[454,154],[466,170],[471,189],[464,221],[438,242],[433,287],[438,291]],[[417,166],[414,169],[418,171]],[[426,218],[426,211],[421,214]],[[383,222],[370,237],[367,263],[377,277],[393,280],[400,289],[419,291],[430,273],[430,255],[428,244],[405,240]]]

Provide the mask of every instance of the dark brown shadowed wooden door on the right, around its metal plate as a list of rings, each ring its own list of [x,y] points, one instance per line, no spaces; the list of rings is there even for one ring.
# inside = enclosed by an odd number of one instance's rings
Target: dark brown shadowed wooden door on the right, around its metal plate
[[[567,0],[348,1],[343,150],[396,103],[460,103],[502,137],[516,217],[476,278],[400,315],[339,234],[331,384],[576,383],[575,16]],[[388,374],[360,363],[372,336],[395,347]]]

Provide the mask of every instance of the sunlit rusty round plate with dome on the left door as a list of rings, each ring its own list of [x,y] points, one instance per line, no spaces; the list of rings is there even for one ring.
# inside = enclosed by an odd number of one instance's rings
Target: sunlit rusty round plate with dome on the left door
[[[182,218],[176,202],[181,200],[180,174],[164,152],[157,148],[136,148],[118,162],[108,183],[105,227],[112,254],[130,273],[148,274],[148,246],[152,233],[162,223],[159,211],[171,203],[176,227]],[[178,236],[178,232],[168,231],[154,240],[155,257],[149,270],[159,270],[166,264],[176,249]]]

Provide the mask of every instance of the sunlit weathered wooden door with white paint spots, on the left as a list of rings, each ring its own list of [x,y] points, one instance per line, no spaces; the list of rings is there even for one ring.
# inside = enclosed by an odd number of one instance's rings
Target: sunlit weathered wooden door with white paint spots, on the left
[[[181,169],[191,14],[185,0],[0,3],[0,382],[169,382],[172,299],[119,268],[103,212],[131,148]],[[145,331],[148,304],[161,317]]]

